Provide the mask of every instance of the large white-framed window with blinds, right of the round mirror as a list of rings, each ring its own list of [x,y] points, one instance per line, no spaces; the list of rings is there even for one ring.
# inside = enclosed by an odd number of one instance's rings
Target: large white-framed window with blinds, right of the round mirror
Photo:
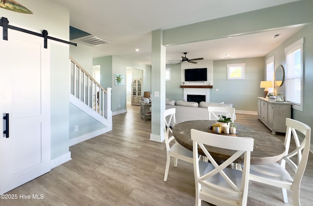
[[[286,101],[292,108],[302,111],[303,38],[285,48],[286,54]]]

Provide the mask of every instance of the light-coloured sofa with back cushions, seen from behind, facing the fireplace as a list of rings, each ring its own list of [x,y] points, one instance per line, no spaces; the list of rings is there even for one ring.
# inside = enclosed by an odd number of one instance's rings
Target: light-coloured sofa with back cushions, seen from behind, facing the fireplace
[[[176,123],[189,121],[189,120],[208,120],[209,112],[207,111],[208,106],[214,107],[230,107],[232,104],[224,104],[224,102],[215,103],[215,102],[187,102],[184,100],[174,101],[166,100],[165,109],[176,108]],[[221,114],[222,115],[222,114]],[[228,116],[227,116],[228,117]],[[230,116],[229,116],[230,117]],[[216,119],[218,120],[218,119]],[[236,114],[235,119],[236,120]]]

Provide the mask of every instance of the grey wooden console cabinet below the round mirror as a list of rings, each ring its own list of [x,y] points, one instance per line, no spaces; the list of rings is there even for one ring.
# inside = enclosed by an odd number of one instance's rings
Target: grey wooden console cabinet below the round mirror
[[[269,101],[258,98],[258,118],[275,135],[276,132],[286,133],[286,118],[291,118],[291,103]]]

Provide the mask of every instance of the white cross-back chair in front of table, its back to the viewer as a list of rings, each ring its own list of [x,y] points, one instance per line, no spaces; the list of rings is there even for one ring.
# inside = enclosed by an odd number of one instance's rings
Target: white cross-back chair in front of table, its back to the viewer
[[[253,138],[230,137],[191,129],[191,139],[193,140],[196,206],[201,206],[201,200],[216,206],[246,206]],[[219,165],[204,145],[235,151],[230,158]],[[201,161],[197,156],[198,146],[211,163]],[[243,171],[227,167],[243,154]]]

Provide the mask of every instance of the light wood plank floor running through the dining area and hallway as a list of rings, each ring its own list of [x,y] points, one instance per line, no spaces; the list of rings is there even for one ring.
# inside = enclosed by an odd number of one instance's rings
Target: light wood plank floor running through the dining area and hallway
[[[170,166],[163,182],[165,143],[149,140],[151,121],[140,118],[139,106],[113,116],[113,130],[70,147],[72,160],[7,194],[43,195],[43,199],[0,200],[0,206],[193,206],[192,164]],[[237,123],[270,133],[256,115],[236,114]],[[283,139],[282,134],[277,137]],[[313,155],[301,183],[301,205],[313,205]],[[292,206],[281,189],[249,183],[249,206]],[[40,196],[39,196],[40,197]],[[258,201],[256,201],[258,200]],[[202,202],[202,206],[208,204]]]

